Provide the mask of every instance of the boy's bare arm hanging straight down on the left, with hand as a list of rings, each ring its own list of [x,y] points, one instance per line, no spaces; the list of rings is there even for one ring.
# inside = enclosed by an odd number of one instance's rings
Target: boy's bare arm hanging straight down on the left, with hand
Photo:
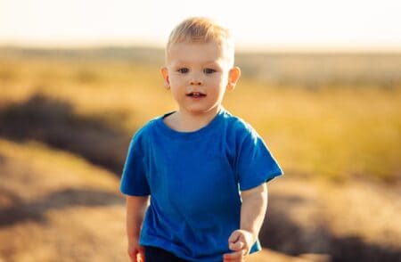
[[[143,249],[139,246],[139,234],[143,216],[148,207],[149,196],[127,196],[128,255],[131,261],[143,261]],[[140,258],[137,258],[139,255]]]

